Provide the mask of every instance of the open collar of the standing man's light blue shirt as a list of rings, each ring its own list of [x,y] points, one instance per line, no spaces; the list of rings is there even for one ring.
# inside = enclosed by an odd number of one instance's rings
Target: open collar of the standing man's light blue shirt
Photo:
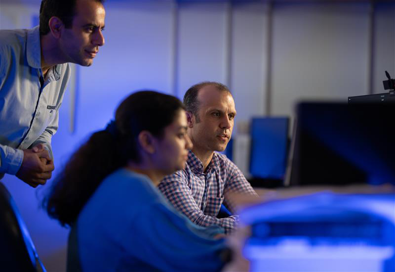
[[[27,30],[26,55],[31,67],[41,69],[41,42],[39,26]],[[51,67],[48,71],[53,71],[53,76],[56,81],[60,79],[61,67],[62,65],[57,64]]]

